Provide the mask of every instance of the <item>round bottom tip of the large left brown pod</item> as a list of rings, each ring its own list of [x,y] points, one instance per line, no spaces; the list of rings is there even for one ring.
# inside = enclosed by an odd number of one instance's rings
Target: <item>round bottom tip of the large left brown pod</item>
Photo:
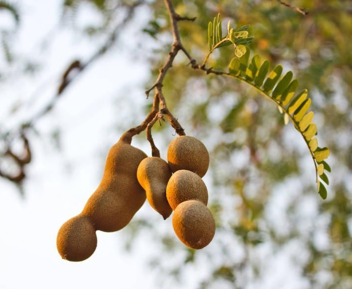
[[[83,261],[96,248],[95,228],[85,215],[77,215],[66,221],[56,238],[56,247],[63,259]]]

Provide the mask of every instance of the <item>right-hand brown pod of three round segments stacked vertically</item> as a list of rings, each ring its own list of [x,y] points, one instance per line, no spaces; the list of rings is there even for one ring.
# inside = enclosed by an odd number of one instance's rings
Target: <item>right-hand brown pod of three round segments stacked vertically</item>
[[[174,172],[166,187],[167,200],[175,210],[174,231],[187,247],[204,248],[215,235],[208,190],[201,179],[208,170],[209,153],[196,138],[178,136],[169,145],[168,162]]]

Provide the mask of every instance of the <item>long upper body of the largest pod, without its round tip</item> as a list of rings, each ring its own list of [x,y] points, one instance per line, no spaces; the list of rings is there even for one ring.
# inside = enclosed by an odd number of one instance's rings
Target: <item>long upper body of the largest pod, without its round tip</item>
[[[144,152],[122,140],[111,147],[100,185],[82,211],[96,230],[122,229],[143,205],[145,191],[136,174],[139,163],[146,157]]]

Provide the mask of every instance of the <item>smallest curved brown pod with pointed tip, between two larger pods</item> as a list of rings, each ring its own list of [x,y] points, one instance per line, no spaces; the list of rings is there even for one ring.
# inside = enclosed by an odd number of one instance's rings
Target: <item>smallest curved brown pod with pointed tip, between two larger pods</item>
[[[164,220],[173,211],[166,199],[166,186],[171,175],[168,163],[157,157],[145,158],[137,169],[138,182],[145,190],[150,206],[160,213]]]

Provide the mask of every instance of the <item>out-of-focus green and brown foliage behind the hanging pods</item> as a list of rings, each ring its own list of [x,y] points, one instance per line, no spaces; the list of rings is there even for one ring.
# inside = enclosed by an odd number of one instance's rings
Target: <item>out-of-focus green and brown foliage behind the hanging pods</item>
[[[194,251],[181,245],[161,220],[153,225],[159,216],[136,218],[126,230],[126,248],[133,252],[138,238],[160,243],[160,251],[150,256],[150,266],[181,284],[190,266],[199,268],[203,273],[195,278],[196,288],[249,288],[249,284],[261,288],[263,276],[272,274],[266,270],[267,262],[283,252],[289,256],[288,268],[296,270],[308,288],[352,288],[352,2],[288,1],[307,9],[306,16],[275,0],[173,2],[178,14],[197,17],[195,22],[179,22],[179,30],[184,46],[198,63],[208,52],[208,21],[220,12],[223,25],[228,20],[237,27],[251,25],[250,35],[256,38],[250,45],[252,55],[268,59],[271,68],[281,63],[284,71],[294,72],[301,89],[308,88],[319,143],[331,151],[331,184],[327,200],[322,201],[304,141],[292,124],[283,124],[273,104],[246,84],[192,70],[180,52],[163,90],[169,109],[186,133],[201,139],[210,151],[206,181],[211,187],[209,207],[216,217],[216,237],[208,249]],[[120,20],[116,11],[133,3],[65,0],[60,25],[99,39]],[[102,21],[77,27],[75,17],[87,5],[94,7]],[[140,28],[143,38],[135,41],[153,44],[146,45],[143,55],[139,50],[131,53],[148,59],[148,87],[167,57],[172,35],[163,1],[140,1],[138,5],[148,7],[150,20]],[[20,23],[20,6],[18,10],[6,8],[0,1],[0,9],[14,16],[14,28]],[[133,17],[127,22],[132,23]],[[0,27],[0,32],[1,53],[10,67],[16,59],[11,55],[16,30]],[[223,47],[213,53],[208,66],[227,71],[232,57],[233,49]],[[39,66],[31,67],[33,71]],[[0,75],[5,82],[6,67]],[[146,113],[150,105],[149,101]],[[153,133],[160,135],[167,127],[156,125]],[[6,142],[5,134],[2,142]],[[176,252],[181,257],[170,262]]]

